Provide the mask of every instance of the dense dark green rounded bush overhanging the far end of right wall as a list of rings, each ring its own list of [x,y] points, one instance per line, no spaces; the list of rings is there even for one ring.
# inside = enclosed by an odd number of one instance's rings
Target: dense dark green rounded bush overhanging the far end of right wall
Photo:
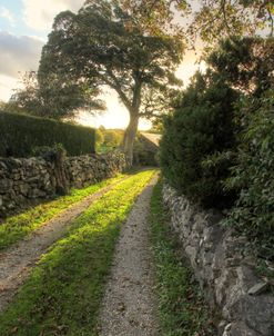
[[[190,200],[205,207],[227,206],[232,194],[223,190],[230,161],[214,169],[203,162],[234,148],[233,103],[237,93],[215,75],[197,73],[164,122],[160,162],[169,182]]]

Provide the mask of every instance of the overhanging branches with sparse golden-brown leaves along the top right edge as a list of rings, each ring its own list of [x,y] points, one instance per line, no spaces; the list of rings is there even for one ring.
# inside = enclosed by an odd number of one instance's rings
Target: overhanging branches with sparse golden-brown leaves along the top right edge
[[[192,45],[197,38],[206,45],[222,37],[273,36],[274,4],[265,0],[121,0],[144,29],[154,34],[176,33]],[[174,10],[175,9],[175,10]],[[187,28],[177,24],[175,13],[187,20]],[[141,17],[141,18],[140,18]]]

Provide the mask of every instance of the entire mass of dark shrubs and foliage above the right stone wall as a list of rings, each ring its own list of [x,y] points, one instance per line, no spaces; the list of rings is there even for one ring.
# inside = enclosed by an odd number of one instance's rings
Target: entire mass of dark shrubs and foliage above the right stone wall
[[[165,120],[161,150],[164,176],[190,199],[227,208],[231,195],[225,223],[271,260],[273,59],[273,38],[222,41],[207,58],[211,77],[196,78]]]

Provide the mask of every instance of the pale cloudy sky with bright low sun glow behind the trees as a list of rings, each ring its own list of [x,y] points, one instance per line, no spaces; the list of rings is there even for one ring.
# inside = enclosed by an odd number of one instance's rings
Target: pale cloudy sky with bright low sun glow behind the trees
[[[82,4],[83,0],[0,0],[0,100],[9,100],[12,90],[20,86],[20,76],[38,69],[54,17],[63,10],[77,12]],[[187,51],[176,72],[184,86],[197,67],[195,53]],[[92,127],[125,128],[129,115],[115,92],[109,90],[102,98],[108,108],[103,115],[91,117],[83,112],[78,121]],[[150,127],[150,122],[141,120],[139,128]]]

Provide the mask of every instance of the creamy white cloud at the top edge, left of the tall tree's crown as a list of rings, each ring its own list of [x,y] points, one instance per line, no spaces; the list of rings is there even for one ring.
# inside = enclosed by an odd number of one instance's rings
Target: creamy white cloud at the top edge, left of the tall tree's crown
[[[23,20],[35,30],[50,30],[54,17],[64,10],[78,11],[84,0],[23,0]]]

